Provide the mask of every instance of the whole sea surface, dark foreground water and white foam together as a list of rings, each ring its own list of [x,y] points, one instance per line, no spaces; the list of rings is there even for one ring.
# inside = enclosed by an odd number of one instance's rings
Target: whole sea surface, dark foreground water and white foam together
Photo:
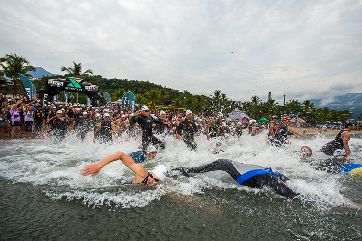
[[[115,151],[138,150],[139,139],[0,141],[0,240],[362,240],[362,210],[351,207],[362,205],[362,179],[316,170],[290,152],[307,145],[313,150],[308,161],[327,159],[318,150],[332,137],[292,138],[286,149],[275,149],[265,136],[230,137],[218,154],[208,150],[218,141],[204,135],[195,137],[196,152],[164,137],[166,149],[142,165],[171,170],[227,158],[271,167],[308,201],[237,185],[221,171],[171,173],[151,187],[125,184],[134,174],[120,160],[94,177],[79,175]],[[349,143],[350,162],[362,163],[362,139]]]

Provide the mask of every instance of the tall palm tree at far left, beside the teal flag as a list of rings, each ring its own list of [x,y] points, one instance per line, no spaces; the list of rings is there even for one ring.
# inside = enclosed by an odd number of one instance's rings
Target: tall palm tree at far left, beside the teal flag
[[[29,65],[29,61],[23,56],[17,56],[16,53],[6,54],[5,57],[0,58],[1,68],[4,71],[5,76],[13,78],[14,81],[14,92],[13,96],[16,95],[17,89],[17,80],[19,74],[23,74],[26,77],[33,77],[27,72],[35,72],[35,68],[32,65]]]

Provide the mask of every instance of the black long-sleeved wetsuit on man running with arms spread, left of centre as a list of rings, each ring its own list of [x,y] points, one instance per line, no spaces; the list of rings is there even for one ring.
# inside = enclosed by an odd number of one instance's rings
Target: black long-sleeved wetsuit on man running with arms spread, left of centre
[[[153,119],[153,117],[151,115],[149,116],[137,116],[137,117],[132,117],[130,120],[130,124],[132,125],[133,123],[137,122],[142,129],[142,150],[146,150],[148,145],[155,144],[156,146],[159,147],[159,150],[165,149],[165,143],[163,141],[161,141],[159,138],[157,138],[155,135],[153,135],[152,133],[152,125],[153,122],[155,122],[156,124],[163,124],[162,120],[156,120]]]

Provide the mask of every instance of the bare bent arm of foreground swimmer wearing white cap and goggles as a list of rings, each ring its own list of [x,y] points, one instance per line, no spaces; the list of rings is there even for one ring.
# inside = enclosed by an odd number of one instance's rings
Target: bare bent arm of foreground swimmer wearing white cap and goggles
[[[135,174],[136,181],[138,181],[139,179],[141,179],[142,181],[148,175],[147,170],[144,167],[142,167],[142,165],[135,163],[134,160],[132,160],[132,158],[130,158],[121,151],[113,153],[112,155],[108,156],[107,158],[101,160],[98,163],[87,165],[86,167],[80,170],[79,174],[83,176],[92,174],[93,177],[94,175],[97,175],[99,173],[102,167],[116,160],[121,160],[123,164],[125,164],[128,168],[130,168],[132,171],[136,173]]]

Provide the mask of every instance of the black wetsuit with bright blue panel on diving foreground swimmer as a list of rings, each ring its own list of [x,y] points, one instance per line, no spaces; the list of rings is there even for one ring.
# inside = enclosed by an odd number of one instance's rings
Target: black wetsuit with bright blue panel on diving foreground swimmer
[[[204,173],[220,170],[227,172],[240,185],[251,188],[269,186],[276,193],[287,198],[295,198],[300,195],[285,184],[285,181],[290,180],[288,177],[272,171],[270,168],[238,163],[228,159],[219,159],[200,167],[179,167],[173,170],[181,171],[181,174],[184,176],[188,176],[188,173]]]

